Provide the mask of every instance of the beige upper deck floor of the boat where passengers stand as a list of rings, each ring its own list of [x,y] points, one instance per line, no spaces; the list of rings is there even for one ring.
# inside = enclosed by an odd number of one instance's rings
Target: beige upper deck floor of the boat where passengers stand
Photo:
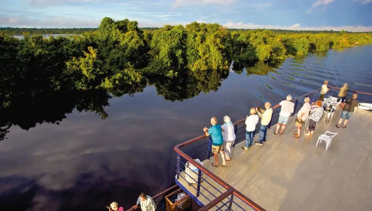
[[[213,157],[204,166],[267,211],[371,210],[372,112],[356,109],[345,129],[335,127],[339,116],[338,109],[329,124],[321,119],[310,137],[303,135],[306,125],[298,139],[292,135],[292,117],[283,135],[274,135],[276,125],[271,127],[262,146],[245,151],[241,149],[245,141],[237,144],[227,167],[211,166]],[[324,141],[315,147],[325,131],[339,133],[328,150]],[[207,180],[216,184],[209,177]],[[217,194],[212,188],[209,191]],[[205,190],[201,193],[210,195]],[[198,200],[209,202],[203,196]]]

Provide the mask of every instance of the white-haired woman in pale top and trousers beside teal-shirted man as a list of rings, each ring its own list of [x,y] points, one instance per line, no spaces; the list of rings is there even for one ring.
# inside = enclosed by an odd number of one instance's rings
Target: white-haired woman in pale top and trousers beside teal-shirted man
[[[235,142],[234,125],[229,116],[224,116],[224,124],[221,126],[223,129],[222,136],[224,138],[225,160],[231,160],[231,147]]]

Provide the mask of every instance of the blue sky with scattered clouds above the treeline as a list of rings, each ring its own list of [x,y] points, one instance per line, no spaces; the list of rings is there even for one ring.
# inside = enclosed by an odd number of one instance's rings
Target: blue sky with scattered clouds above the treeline
[[[372,0],[0,0],[0,27],[140,27],[219,23],[227,28],[372,31]]]

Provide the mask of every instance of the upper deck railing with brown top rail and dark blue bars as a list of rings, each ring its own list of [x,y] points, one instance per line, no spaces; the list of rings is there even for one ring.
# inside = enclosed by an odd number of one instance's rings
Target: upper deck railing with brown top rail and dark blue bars
[[[334,89],[333,95],[335,96],[337,87],[328,87]],[[332,93],[331,90],[329,93]],[[361,92],[355,90],[348,90],[348,96],[353,93],[364,94],[369,97],[372,93]],[[298,113],[301,109],[304,99],[310,98],[310,102],[314,102],[320,97],[320,88],[313,90],[309,93],[301,95],[292,99],[295,103],[295,108],[292,116]],[[359,97],[358,97],[359,98]],[[268,125],[270,129],[272,123],[276,123],[279,119],[280,109],[274,109],[271,121]],[[245,120],[242,119],[234,123],[236,141],[233,144],[240,143],[246,140],[246,126]],[[258,133],[260,123],[257,124],[254,134]],[[207,170],[202,164],[196,162],[194,159],[203,161],[210,159],[212,140],[211,137],[207,138],[205,135],[196,137],[184,143],[180,143],[174,147],[176,155],[176,183],[184,189],[184,191],[190,195],[190,197],[200,206],[204,206],[201,210],[221,210],[221,211],[235,211],[235,210],[252,210],[252,211],[264,211],[263,208],[258,206],[252,200],[248,199],[242,193],[237,191],[235,188],[224,182],[222,179],[217,177],[215,174]],[[183,150],[182,150],[182,149]],[[190,166],[192,168],[190,168]],[[203,184],[204,185],[203,185]],[[189,189],[186,186],[189,186]],[[204,203],[203,203],[203,202]]]

